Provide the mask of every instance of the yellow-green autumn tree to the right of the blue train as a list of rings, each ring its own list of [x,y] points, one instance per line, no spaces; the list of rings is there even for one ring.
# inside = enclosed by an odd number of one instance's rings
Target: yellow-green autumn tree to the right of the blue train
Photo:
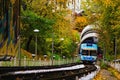
[[[119,0],[87,0],[83,3],[85,12],[92,24],[98,25],[99,29],[99,42],[100,45],[104,45],[105,51],[108,54],[114,53],[114,39],[117,37],[119,41],[119,28],[120,28],[120,1]],[[83,7],[83,6],[82,6]],[[91,16],[93,15],[93,16]],[[118,47],[120,46],[119,43]]]

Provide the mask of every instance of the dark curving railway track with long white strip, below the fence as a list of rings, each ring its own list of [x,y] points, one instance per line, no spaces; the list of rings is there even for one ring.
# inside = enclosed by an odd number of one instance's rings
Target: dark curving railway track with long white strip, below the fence
[[[46,68],[14,69],[0,73],[0,80],[75,80],[76,76],[82,77],[96,69],[95,65],[83,65],[81,63]]]

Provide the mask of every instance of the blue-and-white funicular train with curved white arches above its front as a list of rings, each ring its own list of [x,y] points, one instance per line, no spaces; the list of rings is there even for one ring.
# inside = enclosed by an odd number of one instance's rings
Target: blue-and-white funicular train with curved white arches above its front
[[[88,25],[81,32],[79,54],[83,63],[93,63],[97,60],[98,33],[95,28],[95,25]]]

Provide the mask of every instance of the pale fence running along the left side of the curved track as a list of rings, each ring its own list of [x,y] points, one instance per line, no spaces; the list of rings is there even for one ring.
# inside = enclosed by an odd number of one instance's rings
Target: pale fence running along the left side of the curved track
[[[18,60],[17,58],[12,59],[11,61],[1,61],[0,66],[47,66],[47,65],[61,65],[68,63],[75,63],[79,60],[79,57],[75,59],[59,59],[59,60],[35,60],[35,59],[24,59]]]

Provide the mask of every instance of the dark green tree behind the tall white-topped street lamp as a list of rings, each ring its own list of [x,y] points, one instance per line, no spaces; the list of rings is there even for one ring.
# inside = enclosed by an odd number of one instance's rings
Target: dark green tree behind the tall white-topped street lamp
[[[21,28],[21,35],[23,40],[23,46],[27,51],[30,51],[31,53],[34,53],[33,46],[35,43],[34,38],[34,29],[39,29],[40,32],[38,33],[38,44],[44,44],[46,37],[50,37],[53,24],[52,20],[42,18],[38,16],[36,13],[26,10],[22,13],[22,28]],[[39,53],[46,53],[46,47],[45,46],[39,46],[38,45],[38,52]],[[43,49],[44,48],[44,49]],[[43,50],[42,50],[43,49]]]

